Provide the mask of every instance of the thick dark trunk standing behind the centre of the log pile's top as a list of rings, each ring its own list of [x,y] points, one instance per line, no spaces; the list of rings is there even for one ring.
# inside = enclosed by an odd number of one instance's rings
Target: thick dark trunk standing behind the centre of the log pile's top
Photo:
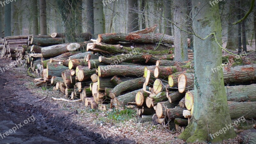
[[[127,31],[139,30],[138,0],[128,1],[128,26]]]

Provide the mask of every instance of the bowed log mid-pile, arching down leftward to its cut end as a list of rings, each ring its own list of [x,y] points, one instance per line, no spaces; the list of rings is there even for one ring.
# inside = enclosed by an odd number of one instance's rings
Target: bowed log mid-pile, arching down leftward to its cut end
[[[109,93],[109,96],[110,96],[110,98],[114,99],[115,97],[119,96],[120,93],[122,93],[122,92],[125,92],[125,91],[128,91],[128,90],[140,89],[140,88],[143,87],[144,82],[145,82],[145,78],[144,77],[140,77],[140,78],[124,81],[124,82],[116,85],[111,90],[111,92]],[[135,96],[134,96],[134,98],[135,98]]]

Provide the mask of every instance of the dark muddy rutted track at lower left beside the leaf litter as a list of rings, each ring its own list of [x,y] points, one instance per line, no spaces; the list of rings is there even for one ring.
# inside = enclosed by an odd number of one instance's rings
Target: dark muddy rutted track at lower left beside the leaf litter
[[[9,60],[0,60],[0,67],[9,63]],[[0,135],[0,143],[135,143],[128,139],[103,139],[100,134],[73,123],[76,112],[60,110],[62,106],[50,102],[51,99],[36,102],[41,98],[26,86],[32,81],[24,68],[0,71],[0,132],[3,135],[15,124],[19,127],[3,139]],[[30,122],[25,121],[28,118]]]

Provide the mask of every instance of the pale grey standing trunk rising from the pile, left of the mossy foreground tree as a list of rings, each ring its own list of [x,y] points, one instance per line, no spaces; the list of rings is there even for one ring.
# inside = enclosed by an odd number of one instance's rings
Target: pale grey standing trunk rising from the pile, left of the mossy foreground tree
[[[186,61],[188,60],[188,42],[187,32],[181,29],[186,29],[187,20],[187,1],[186,0],[173,0],[173,18],[175,21],[174,26],[174,60]]]

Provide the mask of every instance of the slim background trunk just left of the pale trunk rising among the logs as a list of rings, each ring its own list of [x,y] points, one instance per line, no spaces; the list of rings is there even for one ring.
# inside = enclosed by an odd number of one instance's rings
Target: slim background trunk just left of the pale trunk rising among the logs
[[[164,26],[167,27],[165,34],[172,36],[172,27],[169,22],[169,20],[172,20],[171,0],[164,0],[164,17]]]

